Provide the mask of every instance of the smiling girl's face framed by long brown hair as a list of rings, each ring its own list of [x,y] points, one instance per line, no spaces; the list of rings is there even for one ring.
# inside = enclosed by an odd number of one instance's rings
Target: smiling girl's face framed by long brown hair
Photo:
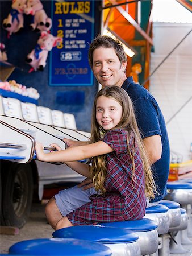
[[[122,118],[123,108],[114,98],[99,96],[96,104],[96,119],[105,130],[114,128]]]

